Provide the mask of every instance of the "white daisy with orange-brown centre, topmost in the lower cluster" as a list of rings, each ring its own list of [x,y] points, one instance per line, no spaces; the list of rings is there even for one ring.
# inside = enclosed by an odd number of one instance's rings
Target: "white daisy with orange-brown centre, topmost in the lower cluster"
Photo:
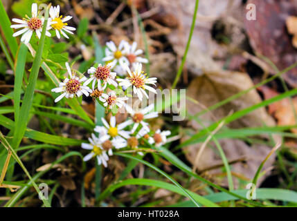
[[[134,133],[136,131],[139,124],[143,126],[143,128],[145,129],[145,131],[147,131],[147,133],[150,132],[150,128],[148,127],[149,124],[147,122],[144,122],[144,119],[158,117],[158,112],[154,111],[150,113],[150,111],[154,109],[154,104],[150,104],[149,106],[147,106],[146,108],[143,108],[140,111],[134,111],[133,108],[127,104],[125,104],[124,106],[127,112],[132,117],[132,119],[127,120],[127,124],[134,124],[131,133]]]

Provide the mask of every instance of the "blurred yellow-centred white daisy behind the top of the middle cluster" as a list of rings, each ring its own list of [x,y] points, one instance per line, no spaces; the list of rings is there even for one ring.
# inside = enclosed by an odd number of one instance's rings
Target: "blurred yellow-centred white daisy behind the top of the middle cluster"
[[[102,61],[113,61],[113,66],[116,64],[120,64],[120,66],[125,66],[125,64],[129,64],[127,57],[125,57],[125,50],[127,48],[127,41],[120,41],[120,45],[118,48],[114,41],[108,41],[106,43],[107,48],[105,48],[106,57],[102,59]]]

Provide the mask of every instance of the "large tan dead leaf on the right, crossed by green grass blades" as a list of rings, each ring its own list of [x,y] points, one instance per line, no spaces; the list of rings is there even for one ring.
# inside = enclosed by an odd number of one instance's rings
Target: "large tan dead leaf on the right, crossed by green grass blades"
[[[209,107],[213,104],[231,97],[236,93],[246,90],[253,86],[251,78],[246,73],[238,73],[231,71],[219,71],[213,73],[205,73],[201,77],[197,77],[192,80],[190,86],[187,89],[187,95],[196,99],[201,105],[194,104],[192,102],[187,102],[187,110],[190,115],[195,115],[200,111],[203,111],[203,106]],[[200,116],[202,122],[205,126],[208,126],[215,119],[221,119],[226,117],[231,111],[236,112],[244,108],[252,106],[253,104],[258,104],[261,102],[260,95],[258,95],[256,90],[251,90],[249,93],[246,93],[244,96],[239,97],[238,99],[229,102],[228,105],[221,106],[211,113],[208,112]],[[215,118],[215,119],[214,119]],[[260,127],[266,124],[267,126],[274,126],[275,122],[271,116],[267,114],[265,108],[259,108],[252,113],[237,119],[234,122],[231,122],[227,126],[229,128],[245,128],[245,127]],[[195,128],[197,131],[201,130],[203,127],[200,126],[195,120],[190,122],[192,128]],[[190,136],[186,135],[183,137],[182,142],[188,140]],[[269,139],[269,137],[261,135],[257,136],[258,139]],[[274,136],[275,140],[279,140],[278,136]],[[210,142],[212,146],[215,146],[213,142]],[[229,162],[234,161],[235,163],[231,166],[231,171],[237,174],[242,174],[244,177],[249,179],[253,178],[255,172],[258,169],[258,166],[271,151],[271,146],[264,144],[253,144],[249,146],[242,140],[236,139],[223,139],[219,140],[224,153]],[[186,146],[184,151],[186,151],[186,157],[194,164],[197,151],[199,150],[201,144],[194,144]],[[216,149],[216,147],[215,147]],[[243,157],[246,159],[244,162]],[[274,162],[274,157],[270,157],[266,164],[264,164],[264,169],[267,169]],[[206,168],[211,168],[216,164],[222,164],[222,158],[216,151],[213,151],[213,148],[205,148],[202,152],[201,157],[199,158],[199,163],[197,165],[199,171],[204,171]],[[222,168],[222,167],[221,167]],[[210,174],[222,173],[221,169],[212,169],[208,171]],[[264,177],[267,177],[269,173],[261,177],[260,182],[264,180]],[[235,186],[238,186],[238,180],[234,179]],[[224,184],[226,185],[226,177],[224,178]]]

